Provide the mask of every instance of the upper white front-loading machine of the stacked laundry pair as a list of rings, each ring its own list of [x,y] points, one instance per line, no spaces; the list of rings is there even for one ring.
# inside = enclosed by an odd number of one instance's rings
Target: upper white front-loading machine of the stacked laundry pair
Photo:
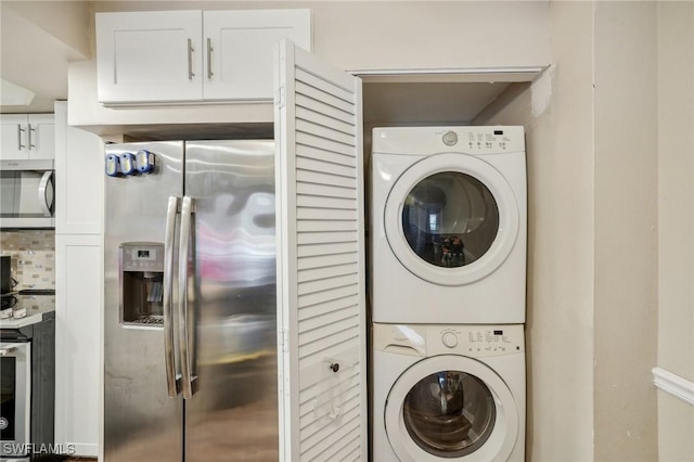
[[[374,322],[524,323],[523,127],[373,130]]]

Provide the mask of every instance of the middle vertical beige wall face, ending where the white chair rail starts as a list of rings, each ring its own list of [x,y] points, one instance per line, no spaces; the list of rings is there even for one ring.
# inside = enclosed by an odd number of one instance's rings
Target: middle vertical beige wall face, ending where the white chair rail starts
[[[657,460],[657,5],[595,2],[595,460]]]

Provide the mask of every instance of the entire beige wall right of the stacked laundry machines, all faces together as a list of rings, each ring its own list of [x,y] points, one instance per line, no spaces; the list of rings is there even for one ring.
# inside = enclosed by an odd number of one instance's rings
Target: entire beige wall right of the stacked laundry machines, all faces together
[[[694,372],[693,17],[552,2],[552,68],[476,120],[527,128],[529,460],[694,460],[650,373]]]

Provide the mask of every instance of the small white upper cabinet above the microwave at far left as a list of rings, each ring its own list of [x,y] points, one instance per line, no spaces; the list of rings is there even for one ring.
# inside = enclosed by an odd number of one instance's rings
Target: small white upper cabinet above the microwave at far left
[[[0,159],[47,159],[55,157],[53,114],[8,114],[0,116]]]

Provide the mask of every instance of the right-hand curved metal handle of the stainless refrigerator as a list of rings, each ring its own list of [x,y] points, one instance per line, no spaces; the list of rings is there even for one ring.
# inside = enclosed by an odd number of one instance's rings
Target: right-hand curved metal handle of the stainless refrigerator
[[[179,243],[178,269],[178,336],[181,351],[181,374],[183,380],[183,398],[193,397],[193,376],[191,361],[190,331],[188,328],[188,257],[190,249],[191,221],[193,200],[183,196],[181,205],[181,234]]]

